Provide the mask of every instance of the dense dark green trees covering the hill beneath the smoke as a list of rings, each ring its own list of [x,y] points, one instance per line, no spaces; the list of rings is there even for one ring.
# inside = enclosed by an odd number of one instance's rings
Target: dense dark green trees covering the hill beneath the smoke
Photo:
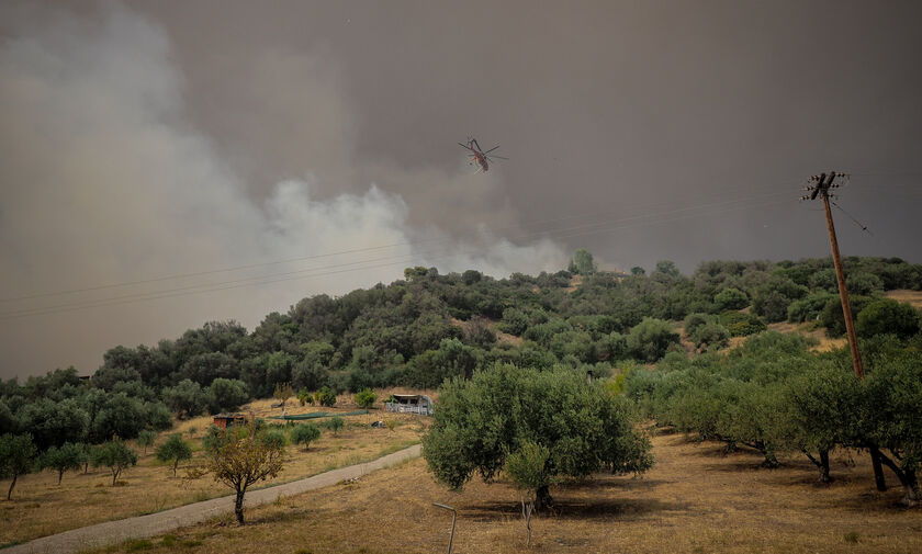
[[[920,264],[844,264],[856,317],[887,290],[922,290]],[[877,324],[895,317],[888,309]],[[690,276],[670,261],[649,273],[597,271],[585,250],[567,270],[538,276],[409,268],[390,285],[304,298],[286,314],[267,315],[252,332],[211,321],[154,347],[115,347],[89,383],[72,370],[0,383],[0,433],[30,432],[42,449],[131,439],[168,428],[171,414],[235,409],[281,383],[295,391],[436,387],[496,362],[605,376],[621,361],[653,362],[678,349],[667,321],[689,315],[704,329],[695,341],[702,350],[785,319],[816,320],[832,333],[844,328],[828,259],[710,261]]]

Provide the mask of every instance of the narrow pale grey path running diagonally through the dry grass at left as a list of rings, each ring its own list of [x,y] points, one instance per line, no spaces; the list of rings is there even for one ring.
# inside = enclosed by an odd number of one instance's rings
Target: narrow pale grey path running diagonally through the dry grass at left
[[[245,506],[252,507],[262,504],[273,502],[282,496],[292,496],[307,490],[335,485],[341,480],[361,477],[362,475],[394,465],[397,462],[418,456],[421,446],[415,444],[407,449],[387,454],[378,460],[340,467],[313,477],[285,483],[274,487],[247,493]],[[105,546],[128,539],[144,539],[172,531],[181,527],[191,525],[207,519],[231,513],[234,511],[234,496],[214,498],[203,502],[195,502],[171,510],[139,516],[137,518],[122,519],[119,521],[106,521],[95,525],[72,529],[64,533],[43,536],[25,544],[3,549],[3,554],[25,554],[53,552],[55,554],[68,554],[82,550]]]

